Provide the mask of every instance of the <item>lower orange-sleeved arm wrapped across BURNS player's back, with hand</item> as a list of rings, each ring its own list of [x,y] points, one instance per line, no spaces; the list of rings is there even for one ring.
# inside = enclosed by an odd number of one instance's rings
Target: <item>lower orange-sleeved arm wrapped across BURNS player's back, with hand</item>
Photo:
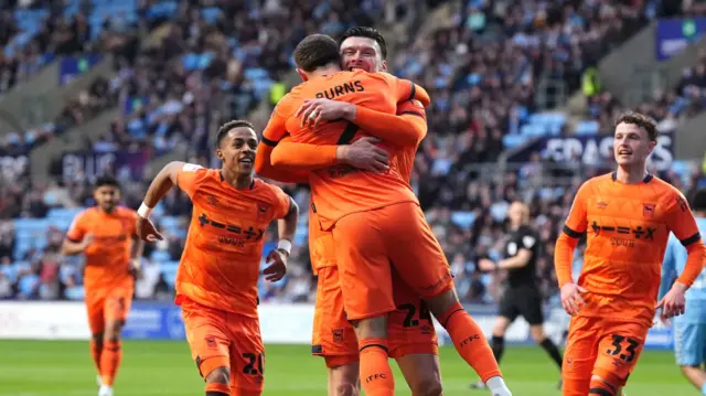
[[[313,171],[341,163],[351,167],[384,172],[389,167],[389,153],[375,146],[376,138],[365,137],[352,145],[295,143],[289,137],[280,140],[272,150],[271,163],[275,168],[298,171]]]

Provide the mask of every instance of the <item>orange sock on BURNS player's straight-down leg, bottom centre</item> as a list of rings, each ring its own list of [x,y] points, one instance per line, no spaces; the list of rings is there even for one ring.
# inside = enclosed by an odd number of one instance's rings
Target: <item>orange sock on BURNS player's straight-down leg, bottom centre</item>
[[[387,340],[365,339],[357,343],[361,351],[361,385],[367,396],[395,395],[395,377],[387,361]]]

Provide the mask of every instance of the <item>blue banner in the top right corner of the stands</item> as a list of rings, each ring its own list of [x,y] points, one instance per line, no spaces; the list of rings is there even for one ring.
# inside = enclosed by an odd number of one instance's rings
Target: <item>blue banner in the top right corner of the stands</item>
[[[675,18],[657,21],[654,30],[655,58],[660,62],[684,51],[706,32],[706,18]]]

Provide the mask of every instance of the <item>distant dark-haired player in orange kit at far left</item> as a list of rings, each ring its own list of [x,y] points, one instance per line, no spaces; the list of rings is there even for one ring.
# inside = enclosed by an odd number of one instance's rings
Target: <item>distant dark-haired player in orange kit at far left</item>
[[[137,214],[118,206],[120,192],[115,178],[99,176],[93,192],[96,206],[76,215],[62,244],[64,255],[83,254],[86,258],[85,300],[98,396],[113,396],[122,360],[120,333],[130,312],[145,247],[135,228]]]

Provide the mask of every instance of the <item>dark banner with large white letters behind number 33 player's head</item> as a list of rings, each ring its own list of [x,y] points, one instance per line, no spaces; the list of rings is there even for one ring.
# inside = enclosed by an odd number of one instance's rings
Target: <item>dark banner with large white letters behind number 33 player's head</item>
[[[509,162],[527,162],[534,152],[556,163],[580,162],[587,167],[612,164],[613,135],[543,137],[511,156]],[[660,132],[650,158],[657,171],[668,170],[674,161],[674,132]]]

